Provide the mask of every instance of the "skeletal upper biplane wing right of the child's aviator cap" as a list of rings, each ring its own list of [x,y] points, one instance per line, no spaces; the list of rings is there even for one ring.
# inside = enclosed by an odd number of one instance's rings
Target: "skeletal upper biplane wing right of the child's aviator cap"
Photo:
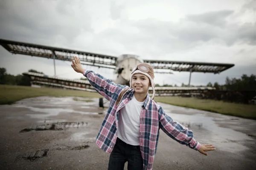
[[[144,60],[144,62],[149,63],[154,69],[169,69],[179,72],[210,72],[214,74],[218,74],[234,66],[234,64],[227,63],[202,63],[188,61]]]

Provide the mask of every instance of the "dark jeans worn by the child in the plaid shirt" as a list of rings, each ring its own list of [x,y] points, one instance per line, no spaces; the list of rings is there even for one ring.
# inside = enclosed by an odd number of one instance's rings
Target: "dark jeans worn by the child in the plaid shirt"
[[[121,139],[116,139],[116,144],[109,157],[108,170],[123,170],[128,161],[128,170],[142,170],[143,159],[140,146],[126,144]]]

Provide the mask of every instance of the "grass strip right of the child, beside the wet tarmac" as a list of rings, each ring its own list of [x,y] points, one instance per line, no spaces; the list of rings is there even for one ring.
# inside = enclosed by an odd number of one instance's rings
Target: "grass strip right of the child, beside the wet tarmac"
[[[155,101],[173,104],[181,107],[217,112],[224,115],[233,115],[241,118],[250,118],[256,120],[256,105],[229,103],[224,101],[215,101],[198,98],[182,97],[156,97]]]

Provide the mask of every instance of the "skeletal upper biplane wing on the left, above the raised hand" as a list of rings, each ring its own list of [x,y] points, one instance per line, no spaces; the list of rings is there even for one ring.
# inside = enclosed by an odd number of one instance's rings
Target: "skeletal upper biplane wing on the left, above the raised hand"
[[[43,46],[32,43],[24,43],[12,40],[0,39],[0,44],[12,54],[31,55],[43,58],[51,58],[62,61],[71,61],[71,58],[77,56],[81,64],[89,66],[98,66],[115,69],[117,57],[110,55],[101,55],[92,52],[64,49],[52,46]]]

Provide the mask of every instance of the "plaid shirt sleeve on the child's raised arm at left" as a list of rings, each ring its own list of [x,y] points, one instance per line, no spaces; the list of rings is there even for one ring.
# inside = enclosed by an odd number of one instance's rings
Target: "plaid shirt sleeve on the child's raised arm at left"
[[[116,88],[121,87],[121,85],[116,85],[113,81],[90,70],[84,70],[83,75],[88,79],[94,89],[108,101],[111,100]]]

